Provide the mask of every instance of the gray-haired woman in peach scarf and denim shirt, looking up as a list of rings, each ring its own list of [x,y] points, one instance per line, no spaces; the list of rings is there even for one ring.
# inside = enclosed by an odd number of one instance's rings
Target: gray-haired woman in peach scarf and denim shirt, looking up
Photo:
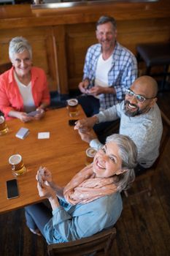
[[[43,203],[26,206],[31,232],[45,236],[48,244],[92,236],[117,222],[122,211],[120,192],[134,181],[137,150],[124,135],[111,135],[94,157],[66,185],[58,187],[43,168],[40,197],[47,197],[53,211]],[[39,180],[39,171],[36,178]],[[48,184],[47,184],[48,183]]]

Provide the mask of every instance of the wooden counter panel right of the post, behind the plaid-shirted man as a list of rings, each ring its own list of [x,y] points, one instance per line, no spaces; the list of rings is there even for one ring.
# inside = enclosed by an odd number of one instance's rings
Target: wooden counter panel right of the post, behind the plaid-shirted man
[[[66,59],[69,89],[77,89],[82,80],[85,53],[97,42],[95,23],[66,27]],[[170,20],[144,19],[117,21],[117,41],[136,55],[136,45],[145,42],[167,42],[170,39]]]

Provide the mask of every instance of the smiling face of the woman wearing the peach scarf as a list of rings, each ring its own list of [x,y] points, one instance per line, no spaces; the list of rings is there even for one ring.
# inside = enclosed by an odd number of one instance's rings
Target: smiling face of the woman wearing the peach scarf
[[[119,148],[115,142],[103,146],[94,157],[93,172],[97,178],[108,178],[123,172]]]

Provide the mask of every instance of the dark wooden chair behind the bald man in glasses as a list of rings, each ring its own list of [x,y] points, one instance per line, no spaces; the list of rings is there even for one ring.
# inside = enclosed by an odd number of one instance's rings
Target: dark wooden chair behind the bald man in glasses
[[[163,121],[163,135],[161,138],[159,157],[158,157],[158,159],[156,159],[154,165],[152,165],[152,167],[148,168],[146,170],[146,172],[142,173],[140,176],[136,176],[134,184],[132,185],[132,189],[135,190],[134,194],[147,192],[147,194],[149,196],[152,195],[152,188],[155,187],[155,183],[158,178],[158,171],[161,170],[161,161],[163,159],[164,152],[166,151],[166,146],[169,143],[169,137],[170,137],[170,120],[162,111],[161,111],[161,117],[162,117],[162,121]],[[139,183],[139,181],[140,182],[147,181],[148,185],[147,185],[147,187],[142,187],[142,189],[140,189],[140,190],[139,190],[139,188],[137,188],[137,191],[136,191],[135,187],[136,187],[136,184]],[[128,191],[124,191],[126,197],[128,197],[128,195],[130,195],[130,191],[131,191],[131,189],[129,189],[129,193],[128,193]]]

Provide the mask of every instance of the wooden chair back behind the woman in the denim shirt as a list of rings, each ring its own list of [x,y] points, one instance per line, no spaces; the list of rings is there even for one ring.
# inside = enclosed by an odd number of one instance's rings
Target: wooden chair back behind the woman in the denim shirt
[[[50,244],[47,246],[48,255],[50,256],[90,256],[92,253],[97,255],[111,255],[112,242],[116,236],[115,227],[110,227],[108,230],[101,231],[96,235],[80,240]],[[98,254],[99,253],[99,254]]]

